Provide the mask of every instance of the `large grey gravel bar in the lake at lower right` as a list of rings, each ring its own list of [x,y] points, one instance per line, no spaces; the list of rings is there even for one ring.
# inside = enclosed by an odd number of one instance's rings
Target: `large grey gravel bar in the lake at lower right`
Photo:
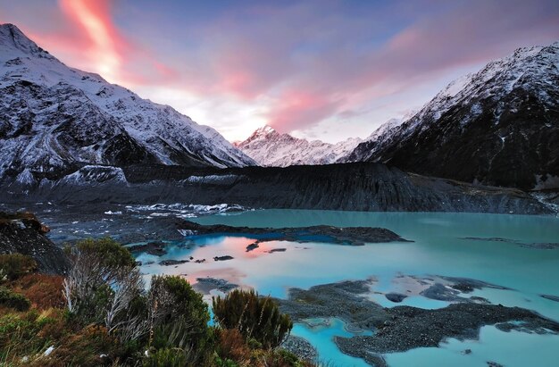
[[[480,328],[495,325],[503,331],[559,333],[559,323],[520,307],[488,304],[479,297],[458,296],[473,288],[502,288],[475,279],[436,277],[448,283],[425,282],[422,296],[452,302],[444,308],[421,309],[412,306],[382,307],[371,301],[375,279],[346,280],[314,286],[290,288],[287,299],[278,299],[280,310],[294,321],[336,317],[348,328],[371,330],[372,336],[336,337],[338,348],[345,354],[363,358],[367,363],[384,366],[383,354],[405,352],[417,347],[438,346],[446,338],[477,339]],[[437,288],[437,292],[433,291]],[[462,288],[458,291],[455,288]],[[450,295],[450,296],[449,296]]]

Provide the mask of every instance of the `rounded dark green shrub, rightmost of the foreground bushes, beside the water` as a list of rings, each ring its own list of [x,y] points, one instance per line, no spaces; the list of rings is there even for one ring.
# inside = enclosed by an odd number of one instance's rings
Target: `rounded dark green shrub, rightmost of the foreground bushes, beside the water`
[[[254,290],[235,289],[223,298],[213,297],[213,313],[222,328],[238,329],[246,340],[254,338],[264,348],[280,346],[293,328],[271,297],[259,297]]]

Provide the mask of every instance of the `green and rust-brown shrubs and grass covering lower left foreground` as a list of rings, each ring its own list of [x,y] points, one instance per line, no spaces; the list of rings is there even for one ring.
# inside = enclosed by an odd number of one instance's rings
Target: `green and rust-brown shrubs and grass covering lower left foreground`
[[[270,298],[234,291],[214,299],[213,327],[185,279],[154,276],[146,288],[112,239],[80,241],[67,253],[65,277],[35,272],[28,256],[0,256],[0,365],[312,366],[277,348],[292,323]]]

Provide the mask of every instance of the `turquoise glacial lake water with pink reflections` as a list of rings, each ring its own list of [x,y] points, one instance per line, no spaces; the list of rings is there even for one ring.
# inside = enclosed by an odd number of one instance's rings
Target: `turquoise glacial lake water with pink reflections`
[[[414,242],[341,246],[321,243],[320,239],[305,244],[271,241],[246,252],[246,246],[254,242],[249,234],[202,236],[194,238],[188,246],[172,244],[168,254],[162,257],[140,254],[138,260],[145,264],[142,271],[146,276],[181,274],[191,282],[204,277],[227,279],[243,287],[256,288],[262,295],[276,297],[287,296],[288,288],[293,287],[310,288],[346,279],[374,278],[371,299],[375,302],[388,307],[407,304],[422,308],[444,307],[448,303],[415,294],[395,304],[384,293],[405,291],[409,277],[463,277],[510,288],[483,288],[470,296],[485,297],[492,304],[520,306],[559,321],[559,303],[540,296],[559,296],[559,248],[541,246],[559,242],[557,217],[260,210],[191,220],[201,224],[271,228],[319,224],[382,227]],[[270,253],[273,249],[285,251]],[[213,261],[213,256],[221,255],[234,259]],[[191,256],[206,261],[176,266],[158,264],[162,260]],[[150,262],[154,263],[146,265]],[[333,343],[333,336],[352,335],[343,321],[331,319],[318,326],[297,323],[293,334],[309,340],[318,349],[321,361],[330,366],[368,365],[342,354]],[[466,349],[471,349],[471,353],[464,354]],[[385,358],[390,366],[487,366],[489,361],[505,366],[557,366],[559,336],[504,332],[486,326],[480,330],[480,339],[448,339],[438,348],[385,354]]]

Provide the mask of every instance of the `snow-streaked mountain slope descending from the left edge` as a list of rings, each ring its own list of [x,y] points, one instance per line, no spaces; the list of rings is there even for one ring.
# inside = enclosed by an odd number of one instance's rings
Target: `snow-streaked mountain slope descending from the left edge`
[[[0,96],[0,179],[88,164],[255,164],[214,129],[67,67],[12,24],[0,25]]]

